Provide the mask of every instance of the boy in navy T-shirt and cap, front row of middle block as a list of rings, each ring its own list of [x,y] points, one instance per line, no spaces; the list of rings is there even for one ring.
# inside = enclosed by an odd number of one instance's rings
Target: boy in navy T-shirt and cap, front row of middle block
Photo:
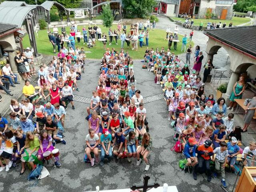
[[[118,128],[116,130],[115,133],[115,138],[113,141],[113,145],[114,145],[114,149],[113,149],[113,154],[116,157],[116,162],[118,161],[118,159],[123,155],[123,151],[124,151],[124,141],[125,141],[125,137],[122,134],[122,129]],[[113,146],[112,145],[112,146]]]

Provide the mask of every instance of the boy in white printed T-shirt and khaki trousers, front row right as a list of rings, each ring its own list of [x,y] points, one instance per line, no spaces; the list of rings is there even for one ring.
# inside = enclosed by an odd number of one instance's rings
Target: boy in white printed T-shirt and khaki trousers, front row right
[[[221,142],[220,147],[215,148],[213,151],[216,154],[216,157],[214,158],[214,156],[212,156],[212,161],[215,161],[216,170],[216,172],[213,173],[213,176],[218,177],[217,171],[221,171],[221,183],[223,187],[227,187],[225,181],[225,166],[228,160],[227,146],[226,142]]]

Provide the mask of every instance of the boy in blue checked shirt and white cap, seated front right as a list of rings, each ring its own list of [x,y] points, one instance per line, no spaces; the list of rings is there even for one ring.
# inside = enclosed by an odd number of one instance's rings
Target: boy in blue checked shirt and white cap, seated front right
[[[231,138],[231,142],[228,142],[228,160],[227,163],[230,164],[231,172],[235,172],[234,164],[236,163],[236,156],[240,154],[240,148],[237,145],[237,139],[235,137]]]

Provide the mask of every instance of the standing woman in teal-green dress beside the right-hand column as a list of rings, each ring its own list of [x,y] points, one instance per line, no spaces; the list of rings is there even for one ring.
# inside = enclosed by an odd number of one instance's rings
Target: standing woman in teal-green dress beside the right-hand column
[[[236,82],[233,86],[233,92],[230,95],[230,103],[228,109],[231,109],[231,111],[234,111],[234,108],[236,107],[237,103],[235,102],[235,99],[242,99],[243,92],[245,89],[245,82],[244,82],[244,76],[240,76],[239,81]]]

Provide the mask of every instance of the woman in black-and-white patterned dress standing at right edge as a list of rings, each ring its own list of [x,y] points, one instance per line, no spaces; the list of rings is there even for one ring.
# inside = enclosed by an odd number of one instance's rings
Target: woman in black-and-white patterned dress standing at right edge
[[[248,126],[251,123],[252,117],[254,116],[256,110],[256,94],[254,95],[254,98],[248,103],[247,108],[245,110],[245,116],[244,116],[244,127],[242,128],[241,132],[246,132]]]

